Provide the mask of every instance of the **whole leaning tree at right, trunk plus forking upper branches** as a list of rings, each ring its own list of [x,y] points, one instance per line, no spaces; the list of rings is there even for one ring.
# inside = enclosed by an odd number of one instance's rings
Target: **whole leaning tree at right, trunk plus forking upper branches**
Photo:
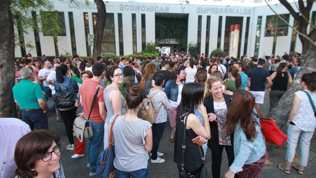
[[[266,1],[267,2],[267,1]],[[276,119],[279,126],[283,126],[286,122],[289,111],[293,105],[294,93],[300,90],[300,79],[304,73],[310,73],[316,70],[316,29],[311,25],[311,30],[307,33],[307,26],[310,20],[310,11],[314,0],[307,0],[306,5],[303,0],[299,0],[299,11],[297,13],[294,8],[286,0],[280,0],[280,3],[291,13],[295,20],[298,21],[299,38],[302,42],[302,58],[301,68],[297,72],[291,87],[284,93],[277,105],[272,108],[268,117]],[[295,3],[295,2],[294,2]],[[268,4],[268,3],[267,3]],[[269,5],[269,4],[268,4]],[[270,6],[269,6],[270,7]],[[270,7],[271,8],[271,7]],[[309,39],[308,39],[309,38]],[[312,43],[313,41],[314,43]]]

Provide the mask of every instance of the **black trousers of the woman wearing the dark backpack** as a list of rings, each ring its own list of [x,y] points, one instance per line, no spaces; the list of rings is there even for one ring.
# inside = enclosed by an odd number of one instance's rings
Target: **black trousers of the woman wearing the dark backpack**
[[[66,134],[69,140],[70,144],[74,144],[73,142],[73,135],[72,135],[72,129],[73,129],[73,122],[74,119],[76,118],[76,107],[72,108],[70,110],[66,111],[61,111],[60,110],[60,116],[62,117],[64,124],[65,124],[65,129],[66,129]]]

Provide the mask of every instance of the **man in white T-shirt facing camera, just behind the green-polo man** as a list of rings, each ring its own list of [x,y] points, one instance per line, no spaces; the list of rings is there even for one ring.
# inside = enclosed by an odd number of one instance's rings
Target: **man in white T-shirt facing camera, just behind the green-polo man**
[[[46,82],[47,76],[52,71],[50,68],[50,62],[47,60],[44,62],[44,68],[40,69],[38,72],[38,80],[43,82],[43,90],[46,94],[46,97],[51,97],[51,89],[49,88],[49,84]]]

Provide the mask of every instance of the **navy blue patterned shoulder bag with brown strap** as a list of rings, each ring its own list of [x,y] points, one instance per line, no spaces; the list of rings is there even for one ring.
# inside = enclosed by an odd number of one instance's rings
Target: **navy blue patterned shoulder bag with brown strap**
[[[110,136],[109,136],[109,147],[101,152],[98,156],[97,165],[96,165],[96,174],[98,177],[107,177],[110,172],[114,171],[114,140],[113,140],[113,125],[116,118],[119,115],[116,115],[111,124]]]

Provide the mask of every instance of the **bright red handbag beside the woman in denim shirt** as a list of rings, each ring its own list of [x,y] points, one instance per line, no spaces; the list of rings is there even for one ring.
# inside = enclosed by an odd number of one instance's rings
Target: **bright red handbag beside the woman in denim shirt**
[[[262,117],[261,114],[257,116],[260,120],[262,135],[266,141],[281,146],[287,139],[287,135],[278,128],[274,119]]]

